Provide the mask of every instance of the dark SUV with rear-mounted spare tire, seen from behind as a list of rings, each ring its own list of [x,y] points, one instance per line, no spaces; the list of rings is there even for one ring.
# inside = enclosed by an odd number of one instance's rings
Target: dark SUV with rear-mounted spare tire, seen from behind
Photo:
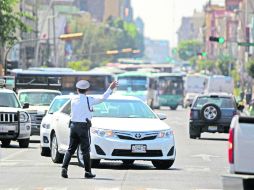
[[[190,138],[200,138],[201,133],[228,133],[232,118],[239,114],[235,98],[229,94],[199,95],[190,111]]]

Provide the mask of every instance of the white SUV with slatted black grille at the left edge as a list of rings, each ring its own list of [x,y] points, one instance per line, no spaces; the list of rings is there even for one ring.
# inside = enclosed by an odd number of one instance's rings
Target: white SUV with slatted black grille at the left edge
[[[25,104],[23,108],[28,108]],[[0,89],[0,141],[2,147],[17,140],[21,148],[29,146],[31,119],[23,110],[16,94],[12,90]]]

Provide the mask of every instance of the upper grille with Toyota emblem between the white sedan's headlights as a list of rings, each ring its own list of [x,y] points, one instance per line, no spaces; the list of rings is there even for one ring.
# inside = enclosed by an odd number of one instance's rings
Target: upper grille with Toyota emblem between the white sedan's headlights
[[[154,140],[159,132],[115,132],[119,139],[124,140]]]

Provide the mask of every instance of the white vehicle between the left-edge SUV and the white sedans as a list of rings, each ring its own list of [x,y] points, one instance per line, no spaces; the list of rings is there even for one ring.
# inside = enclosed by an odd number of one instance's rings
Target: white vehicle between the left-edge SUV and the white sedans
[[[40,124],[45,116],[52,100],[61,95],[58,90],[48,89],[23,89],[18,91],[20,103],[29,103],[27,112],[31,116],[32,132],[31,135],[40,135]]]

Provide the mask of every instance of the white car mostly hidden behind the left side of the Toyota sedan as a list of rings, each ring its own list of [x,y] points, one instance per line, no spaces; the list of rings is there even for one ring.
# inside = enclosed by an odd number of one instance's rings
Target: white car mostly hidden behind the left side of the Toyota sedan
[[[41,156],[50,156],[50,126],[53,113],[58,111],[70,98],[71,95],[56,96],[43,117],[40,125]]]

